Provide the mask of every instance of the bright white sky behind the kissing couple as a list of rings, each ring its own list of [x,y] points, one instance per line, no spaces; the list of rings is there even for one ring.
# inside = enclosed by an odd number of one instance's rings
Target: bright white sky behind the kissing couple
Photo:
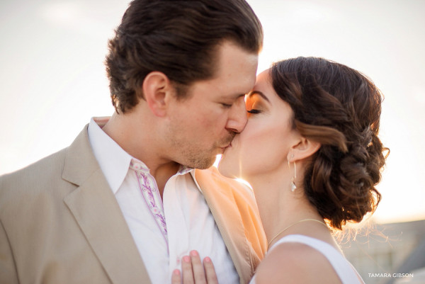
[[[278,59],[317,56],[375,81],[391,149],[375,220],[425,219],[425,1],[248,2],[265,32],[259,72]],[[0,1],[0,174],[67,147],[92,116],[113,113],[103,59],[127,5]]]

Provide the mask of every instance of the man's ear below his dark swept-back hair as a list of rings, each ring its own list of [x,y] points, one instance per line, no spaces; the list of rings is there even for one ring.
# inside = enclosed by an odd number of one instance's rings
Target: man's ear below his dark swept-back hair
[[[154,115],[166,115],[167,96],[174,95],[174,87],[166,74],[158,71],[150,72],[143,80],[143,95]]]

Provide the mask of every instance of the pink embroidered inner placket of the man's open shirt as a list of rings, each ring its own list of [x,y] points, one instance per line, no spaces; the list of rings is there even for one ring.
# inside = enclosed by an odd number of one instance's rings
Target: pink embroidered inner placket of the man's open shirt
[[[154,217],[154,220],[157,222],[168,248],[164,205],[162,204],[161,195],[159,194],[157,181],[155,181],[155,178],[149,173],[147,166],[140,161],[132,159],[130,168],[135,171],[142,197],[152,217]]]

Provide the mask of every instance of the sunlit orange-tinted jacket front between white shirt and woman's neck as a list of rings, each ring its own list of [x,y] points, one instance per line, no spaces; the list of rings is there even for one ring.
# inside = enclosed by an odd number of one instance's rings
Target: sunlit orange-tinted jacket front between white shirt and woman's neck
[[[196,170],[195,177],[232,257],[240,283],[248,283],[254,275],[254,267],[263,257],[265,248],[261,223],[255,217],[258,212],[256,214],[251,209],[246,210],[249,200],[240,200],[241,198],[234,194],[234,188],[241,188],[239,182],[222,177],[216,170],[212,173],[211,170]],[[258,222],[259,230],[254,229],[254,232],[249,228],[255,226],[244,222]],[[247,236],[252,237],[250,242]]]

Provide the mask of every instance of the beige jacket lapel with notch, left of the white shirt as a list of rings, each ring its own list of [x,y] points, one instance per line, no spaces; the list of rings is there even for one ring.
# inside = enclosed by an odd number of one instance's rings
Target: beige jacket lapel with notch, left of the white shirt
[[[78,186],[64,203],[112,283],[151,283],[115,196],[91,152],[87,126],[67,150],[62,178]]]

